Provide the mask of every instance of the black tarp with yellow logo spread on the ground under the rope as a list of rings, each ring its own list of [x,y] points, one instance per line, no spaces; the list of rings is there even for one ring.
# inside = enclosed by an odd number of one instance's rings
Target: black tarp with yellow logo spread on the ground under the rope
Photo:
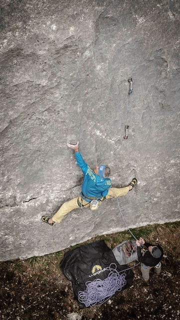
[[[130,287],[134,277],[132,269],[129,269],[127,265],[120,265],[118,263],[112,250],[106,245],[104,240],[82,245],[66,252],[61,262],[61,268],[67,279],[72,282],[74,295],[80,308],[105,302],[111,296]],[[94,287],[95,280],[106,281],[111,274],[117,275],[117,273],[120,277],[122,274],[125,276],[125,281],[122,281],[123,286],[120,290],[116,290],[111,296],[93,303],[92,301],[89,302],[88,298],[85,299],[85,302],[79,299],[80,291],[87,291],[89,283],[92,283]],[[112,284],[112,279],[110,284]]]

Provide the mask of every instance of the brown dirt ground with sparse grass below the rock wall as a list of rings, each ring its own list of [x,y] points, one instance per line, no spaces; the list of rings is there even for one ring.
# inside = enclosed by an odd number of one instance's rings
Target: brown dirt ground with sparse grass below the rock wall
[[[134,267],[133,286],[100,306],[79,309],[71,282],[59,266],[66,250],[0,262],[0,320],[179,320],[180,222],[150,230],[139,228],[138,233],[163,246],[162,272],[157,275],[151,270],[150,280],[144,282],[140,265]],[[101,238],[113,248],[128,236],[124,232]]]

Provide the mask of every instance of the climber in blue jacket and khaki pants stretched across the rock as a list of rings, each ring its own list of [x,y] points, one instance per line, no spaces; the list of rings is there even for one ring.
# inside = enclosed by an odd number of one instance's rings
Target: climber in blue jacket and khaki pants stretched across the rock
[[[126,195],[137,184],[137,179],[133,178],[128,186],[123,188],[111,187],[112,182],[109,178],[111,171],[109,166],[101,164],[96,166],[94,170],[91,170],[79,152],[79,142],[75,145],[67,143],[67,146],[75,151],[77,164],[84,173],[82,191],[77,197],[64,202],[51,218],[42,216],[42,221],[49,225],[61,222],[63,217],[73,209],[89,206],[93,209],[93,202],[96,202],[95,208],[97,208],[104,199]]]

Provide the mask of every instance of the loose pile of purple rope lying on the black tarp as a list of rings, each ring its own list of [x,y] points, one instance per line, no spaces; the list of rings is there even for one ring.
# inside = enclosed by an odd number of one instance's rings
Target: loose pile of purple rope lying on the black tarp
[[[112,266],[113,264],[114,267]],[[87,281],[86,290],[78,292],[79,302],[84,303],[86,307],[93,306],[98,302],[102,304],[115,294],[116,291],[121,291],[122,287],[126,285],[126,273],[120,274],[116,268],[117,265],[111,263],[110,266],[106,268],[110,270],[106,279]]]

